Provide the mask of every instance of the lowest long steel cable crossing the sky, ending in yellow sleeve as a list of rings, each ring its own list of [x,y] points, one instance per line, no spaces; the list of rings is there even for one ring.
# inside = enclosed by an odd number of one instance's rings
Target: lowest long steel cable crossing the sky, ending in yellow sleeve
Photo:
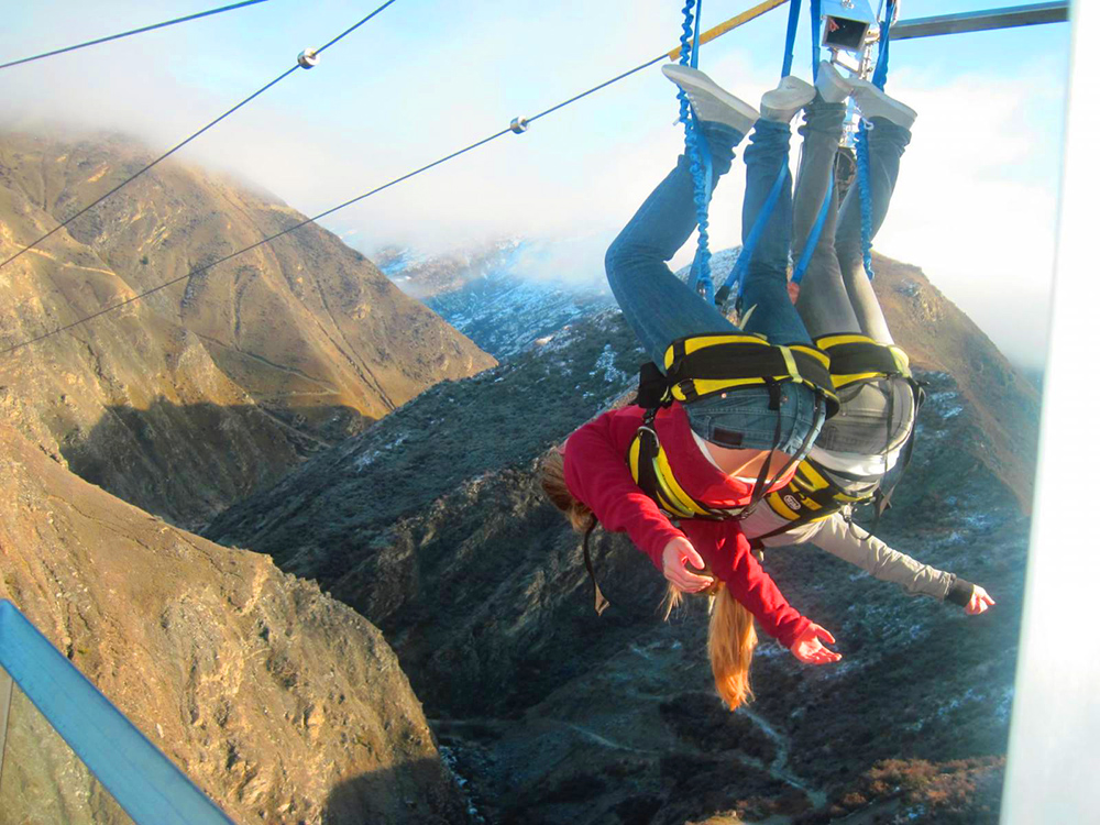
[[[757,18],[760,14],[763,14],[767,11],[770,11],[770,10],[772,10],[772,9],[779,7],[779,6],[782,6],[784,2],[788,2],[788,1],[789,0],[765,0],[765,2],[760,3],[757,7],[754,7],[749,11],[744,12],[744,13],[737,15],[736,18],[732,18],[730,20],[727,20],[725,23],[716,25],[714,29],[711,29],[711,30],[704,32],[702,35],[700,35],[700,38],[698,38],[700,45],[702,45],[703,43],[708,42],[710,40],[714,40],[715,37],[719,37],[723,34],[726,34],[727,32],[733,31],[734,29],[736,29],[737,26],[741,25],[743,23],[746,23],[749,20],[752,20],[754,18]],[[395,0],[391,0],[391,2],[395,2]],[[388,4],[389,3],[386,3],[386,6],[388,6]],[[376,14],[378,11],[382,11],[382,9],[384,9],[384,8],[385,8],[385,6],[381,7],[374,13]],[[361,23],[358,23],[356,26],[361,25],[362,22],[365,22],[365,20],[361,21]],[[351,31],[351,30],[349,30],[349,31]],[[346,34],[346,32],[344,34]],[[344,35],[341,34],[340,36],[342,37]],[[337,40],[339,40],[339,38],[340,37],[337,37]],[[330,41],[328,44],[326,44],[324,47],[327,48],[329,45],[332,45],[332,43],[336,43],[336,40]],[[318,52],[320,52],[320,51],[321,50],[318,50]],[[322,218],[327,218],[328,216],[330,216],[330,215],[332,215],[334,212],[338,212],[341,209],[345,209],[345,208],[352,206],[353,204],[358,204],[361,200],[365,200],[366,198],[370,198],[373,195],[377,195],[378,193],[384,191],[385,189],[388,189],[388,188],[391,188],[393,186],[396,186],[397,184],[400,184],[400,183],[403,183],[405,180],[408,180],[411,177],[416,177],[417,175],[419,175],[419,174],[421,174],[424,172],[428,172],[428,169],[435,168],[436,166],[444,164],[448,161],[452,161],[455,157],[458,157],[459,155],[464,155],[468,152],[472,152],[473,150],[479,148],[481,146],[484,146],[487,143],[492,143],[493,141],[497,140],[498,138],[503,138],[504,135],[508,134],[509,132],[516,133],[516,134],[520,134],[520,133],[527,131],[528,124],[534,123],[536,120],[539,120],[540,118],[544,118],[548,114],[551,114],[551,113],[558,111],[559,109],[562,109],[562,108],[564,108],[564,107],[566,107],[566,106],[569,106],[571,103],[575,103],[578,100],[586,98],[588,95],[592,95],[592,94],[594,94],[596,91],[600,91],[601,89],[607,88],[612,84],[617,82],[617,81],[619,81],[619,80],[622,80],[622,79],[624,79],[626,77],[629,77],[630,75],[634,75],[634,74],[636,74],[638,72],[641,72],[642,69],[648,68],[649,66],[652,66],[653,64],[660,63],[661,61],[664,61],[664,59],[675,59],[676,57],[679,57],[679,54],[680,54],[680,48],[676,47],[672,52],[669,52],[669,53],[666,53],[666,54],[661,54],[660,56],[654,57],[651,61],[647,61],[646,63],[644,63],[644,64],[641,64],[639,66],[636,66],[635,68],[632,68],[632,69],[630,69],[628,72],[624,72],[622,75],[617,75],[616,77],[612,78],[610,80],[605,80],[604,82],[600,84],[598,86],[593,86],[591,89],[582,91],[580,95],[574,95],[573,97],[569,98],[568,100],[563,100],[562,102],[557,103],[556,106],[551,106],[549,109],[544,109],[543,111],[539,112],[538,114],[535,114],[535,116],[532,116],[530,118],[516,118],[512,122],[510,127],[508,127],[506,129],[502,129],[499,132],[491,134],[487,138],[483,138],[482,140],[476,141],[475,143],[471,143],[469,146],[465,146],[464,148],[460,148],[457,152],[452,152],[449,155],[444,155],[443,157],[440,157],[438,161],[432,161],[431,163],[429,163],[429,164],[427,164],[425,166],[421,166],[418,169],[414,169],[413,172],[406,173],[405,175],[402,175],[400,177],[394,178],[393,180],[391,180],[387,184],[383,184],[382,186],[378,186],[378,187],[376,187],[374,189],[371,189],[370,191],[365,191],[362,195],[358,195],[358,196],[355,196],[354,198],[352,198],[350,200],[345,200],[343,204],[334,206],[331,209],[326,209],[323,212],[315,215],[312,218],[307,218],[304,221],[299,221],[298,223],[295,223],[294,226],[287,227],[286,229],[279,231],[279,232],[276,232],[273,235],[267,235],[266,238],[262,238],[258,241],[256,241],[255,243],[249,244],[248,246],[239,249],[235,252],[229,253],[224,257],[220,257],[217,261],[212,261],[209,264],[205,264],[202,266],[199,266],[198,268],[191,270],[190,272],[187,272],[184,275],[180,275],[178,277],[172,278],[170,280],[166,280],[163,284],[158,284],[158,285],[152,287],[151,289],[146,289],[143,293],[138,293],[136,295],[133,295],[130,298],[127,298],[125,300],[121,300],[118,304],[112,304],[109,307],[105,307],[103,309],[100,309],[100,310],[98,310],[96,312],[92,312],[91,315],[88,315],[88,316],[85,316],[82,318],[79,318],[79,319],[77,319],[77,320],[75,320],[75,321],[73,321],[70,323],[66,323],[66,324],[64,324],[62,327],[56,327],[56,328],[54,328],[54,329],[52,329],[52,330],[50,330],[47,332],[43,332],[41,336],[36,336],[34,338],[28,339],[26,341],[22,341],[22,342],[20,342],[18,344],[13,344],[12,346],[8,346],[8,348],[6,348],[3,350],[0,350],[0,356],[10,355],[11,353],[15,352],[16,350],[21,350],[24,346],[30,346],[31,344],[35,344],[38,341],[43,341],[43,340],[45,340],[47,338],[51,338],[53,336],[56,336],[56,334],[58,334],[61,332],[66,332],[66,331],[68,331],[70,329],[79,327],[79,326],[81,326],[84,323],[87,323],[90,320],[99,318],[100,316],[107,315],[108,312],[112,312],[116,309],[120,309],[121,307],[125,307],[125,306],[128,306],[130,304],[134,304],[134,302],[141,300],[142,298],[148,297],[150,295],[153,295],[154,293],[161,292],[162,289],[166,289],[169,286],[173,286],[175,284],[180,283],[182,280],[187,280],[188,278],[194,277],[195,275],[201,275],[202,273],[205,273],[205,272],[213,268],[215,266],[218,266],[219,264],[223,264],[227,261],[231,261],[232,258],[237,257],[238,255],[243,255],[245,252],[251,252],[254,249],[258,249],[260,246],[263,246],[264,244],[271,243],[272,241],[275,241],[275,240],[282,238],[283,235],[287,235],[290,232],[294,232],[295,230],[301,229],[305,226],[308,226],[310,223],[316,223],[317,221],[321,220]],[[289,73],[287,73],[287,74],[289,74]],[[11,260],[11,258],[9,258],[9,260]]]

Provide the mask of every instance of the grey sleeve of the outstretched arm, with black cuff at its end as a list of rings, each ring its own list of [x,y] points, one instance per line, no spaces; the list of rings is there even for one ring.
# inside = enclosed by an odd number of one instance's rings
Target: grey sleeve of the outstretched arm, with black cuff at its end
[[[942,602],[955,584],[954,573],[936,570],[892,550],[884,541],[846,520],[842,513],[826,519],[811,541],[876,579],[900,584],[911,596],[934,596]]]

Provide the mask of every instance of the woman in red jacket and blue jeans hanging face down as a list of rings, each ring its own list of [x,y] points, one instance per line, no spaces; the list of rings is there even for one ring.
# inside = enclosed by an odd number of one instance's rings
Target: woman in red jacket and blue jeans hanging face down
[[[745,152],[741,215],[747,235],[788,162],[790,121],[813,99],[814,87],[785,78],[763,96],[757,112],[696,69],[666,66],[663,70],[691,101],[695,124],[711,152],[715,182],[729,170],[734,147],[752,130]],[[690,162],[680,157],[607,251],[612,290],[654,363],[670,363],[674,342],[711,333],[758,333],[770,344],[811,349],[787,289],[790,176],[748,267],[743,293],[748,309],[740,329],[701,300],[666,263],[695,227]],[[787,603],[752,557],[735,520],[763,493],[791,479],[824,418],[822,396],[812,387],[769,381],[690,403],[673,402],[651,421],[639,407],[606,413],[570,436],[563,460],[559,463],[552,455],[544,469],[548,493],[575,526],[594,524],[594,517],[607,530],[627,532],[678,592],[717,588],[708,647],[715,684],[730,707],[749,696],[754,616],[803,662],[824,664],[840,658],[822,645],[834,642],[833,636]],[[671,485],[680,501],[695,503],[689,512],[701,513],[702,507],[708,518],[674,522],[642,492],[628,466],[639,429],[648,429],[658,442],[664,488]],[[723,514],[729,518],[714,520]]]

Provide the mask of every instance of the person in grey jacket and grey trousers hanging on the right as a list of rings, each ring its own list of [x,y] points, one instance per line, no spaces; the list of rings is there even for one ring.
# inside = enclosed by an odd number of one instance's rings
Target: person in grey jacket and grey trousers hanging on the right
[[[821,64],[815,86],[816,95],[805,107],[805,123],[800,129],[804,144],[792,216],[795,261],[802,256],[829,191],[848,96],[854,97],[861,118],[871,127],[868,142],[872,237],[886,218],[901,155],[916,119],[916,112],[904,103],[871,84],[844,78],[827,62]],[[815,341],[827,336],[858,333],[879,344],[893,344],[864,270],[860,224],[858,187],[849,189],[843,204],[837,202],[834,189],[826,205],[821,241],[810,258],[802,287],[792,290],[795,308]],[[848,387],[838,385],[837,394],[840,411],[825,422],[809,459],[820,475],[846,495],[869,496],[898,464],[912,437],[916,417],[913,387],[905,378],[892,375]],[[784,530],[789,525],[793,526]],[[981,586],[893,550],[853,524],[850,506],[827,518],[795,525],[766,499],[741,520],[741,527],[757,547],[813,542],[876,579],[901,585],[911,595],[953,602],[965,607],[969,615],[983,613],[994,604]]]

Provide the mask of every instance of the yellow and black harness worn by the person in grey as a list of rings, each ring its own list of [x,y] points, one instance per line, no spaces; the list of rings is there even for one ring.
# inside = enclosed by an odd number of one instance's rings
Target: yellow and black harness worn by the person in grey
[[[924,387],[913,377],[909,356],[894,344],[880,344],[867,336],[844,333],[818,338],[814,343],[829,356],[833,385],[837,389],[878,378],[901,377],[913,389],[914,428],[902,447],[898,466],[881,484],[868,484],[866,493],[853,492],[837,484],[831,472],[813,459],[804,460],[795,471],[791,483],[782,490],[766,496],[768,506],[776,515],[788,519],[788,524],[762,536],[755,536],[755,548],[762,548],[763,539],[789,532],[813,521],[821,521],[848,505],[875,503],[876,518],[890,507],[890,498],[909,466],[916,441],[916,414],[924,402]]]

